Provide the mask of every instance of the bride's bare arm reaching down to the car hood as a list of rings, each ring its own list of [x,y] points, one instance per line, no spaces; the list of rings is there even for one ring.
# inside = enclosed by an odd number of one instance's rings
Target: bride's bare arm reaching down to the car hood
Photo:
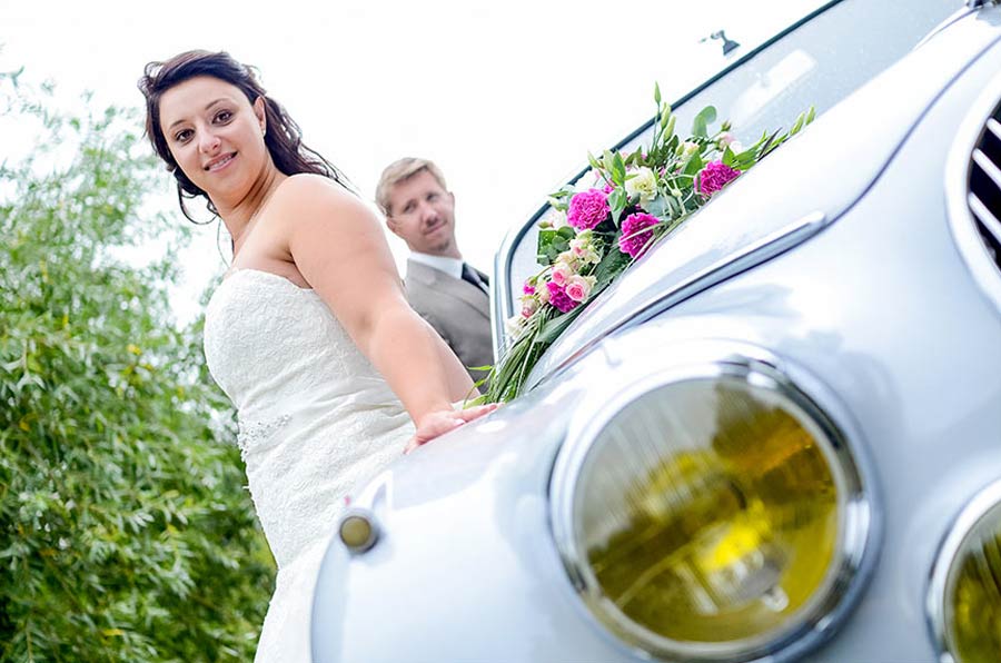
[[[288,250],[299,273],[386,378],[418,427],[418,444],[492,409],[453,413],[453,402],[475,394],[473,380],[407,304],[371,210],[316,176],[286,181],[272,209],[287,225]]]

